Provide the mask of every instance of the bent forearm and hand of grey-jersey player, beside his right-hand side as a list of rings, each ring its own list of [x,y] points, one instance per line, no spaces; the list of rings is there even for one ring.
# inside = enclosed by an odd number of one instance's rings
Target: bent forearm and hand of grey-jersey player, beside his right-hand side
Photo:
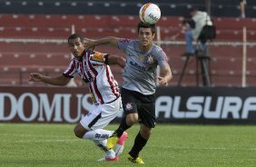
[[[172,71],[169,65],[164,65],[160,68],[161,76],[158,76],[158,82],[162,85],[167,86],[172,80]]]

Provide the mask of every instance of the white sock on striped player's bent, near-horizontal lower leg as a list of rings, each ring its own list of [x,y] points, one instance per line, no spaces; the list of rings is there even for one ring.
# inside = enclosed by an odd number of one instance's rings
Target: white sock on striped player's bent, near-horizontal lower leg
[[[89,131],[84,134],[83,139],[93,140],[93,141],[102,141],[107,139],[113,134],[113,131],[107,131],[103,129],[96,129],[94,131]]]

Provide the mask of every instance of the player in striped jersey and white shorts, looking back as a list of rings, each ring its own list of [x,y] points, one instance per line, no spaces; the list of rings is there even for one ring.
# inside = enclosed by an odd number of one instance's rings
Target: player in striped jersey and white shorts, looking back
[[[64,73],[58,77],[45,76],[38,73],[30,74],[31,82],[43,82],[53,85],[65,85],[79,74],[85,83],[88,84],[94,105],[89,113],[74,127],[74,134],[82,139],[92,140],[105,152],[101,161],[118,161],[118,154],[123,152],[123,144],[127,133],[119,141],[120,147],[113,149],[106,148],[107,138],[113,131],[103,130],[120,111],[123,111],[121,94],[118,83],[108,64],[124,66],[125,61],[120,56],[103,54],[84,49],[84,37],[81,34],[71,34],[68,38],[68,46],[74,58]]]

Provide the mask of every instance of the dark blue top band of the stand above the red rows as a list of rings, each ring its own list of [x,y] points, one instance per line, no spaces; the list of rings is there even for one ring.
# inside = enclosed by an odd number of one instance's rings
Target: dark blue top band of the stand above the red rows
[[[188,8],[205,9],[205,0],[153,0],[162,9],[162,15],[184,16]],[[211,1],[212,16],[237,17],[240,15],[238,3],[233,0]],[[2,14],[55,14],[55,15],[137,15],[143,5],[140,0],[15,0],[0,1]],[[246,16],[255,17],[256,1],[247,0]]]

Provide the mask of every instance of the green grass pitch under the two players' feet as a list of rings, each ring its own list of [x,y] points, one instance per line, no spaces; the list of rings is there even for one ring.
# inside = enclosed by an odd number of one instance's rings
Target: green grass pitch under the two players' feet
[[[111,124],[106,129],[114,130]],[[119,162],[103,157],[94,142],[78,139],[74,124],[0,123],[0,166],[134,166],[127,152],[139,126],[129,138]],[[256,126],[157,124],[141,152],[144,166],[256,166]]]

